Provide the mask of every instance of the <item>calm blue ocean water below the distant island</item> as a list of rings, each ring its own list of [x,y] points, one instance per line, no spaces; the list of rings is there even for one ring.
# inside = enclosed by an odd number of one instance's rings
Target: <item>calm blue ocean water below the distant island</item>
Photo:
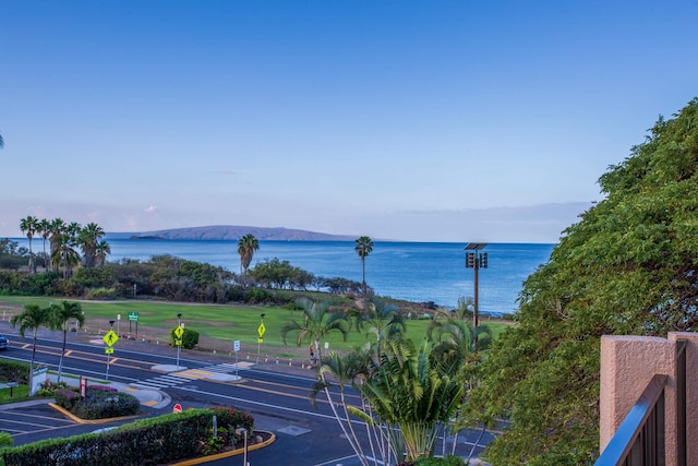
[[[240,272],[237,241],[106,239],[111,247],[109,261],[170,254]],[[15,240],[28,246],[26,238]],[[316,276],[361,282],[361,259],[353,247],[353,241],[260,241],[251,266],[277,258]],[[366,284],[380,296],[454,308],[459,297],[474,297],[474,273],[465,266],[465,242],[376,241],[365,260]],[[553,247],[488,244],[481,251],[488,253],[488,268],[478,272],[480,312],[515,312],[524,280],[547,262]],[[41,241],[35,240],[34,250],[41,248]]]

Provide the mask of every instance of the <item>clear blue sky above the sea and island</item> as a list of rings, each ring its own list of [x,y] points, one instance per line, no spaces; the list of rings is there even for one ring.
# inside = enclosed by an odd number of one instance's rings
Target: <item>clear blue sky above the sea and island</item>
[[[0,236],[556,242],[698,95],[698,2],[0,5]]]

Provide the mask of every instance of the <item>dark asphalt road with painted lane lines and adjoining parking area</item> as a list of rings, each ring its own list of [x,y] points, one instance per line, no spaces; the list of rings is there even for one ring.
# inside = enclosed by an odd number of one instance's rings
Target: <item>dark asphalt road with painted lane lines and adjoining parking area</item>
[[[31,338],[19,338],[4,323],[0,323],[0,333],[11,338],[10,349],[0,357],[28,361],[31,358]],[[36,361],[58,368],[61,344],[57,334],[40,335],[36,349]],[[173,404],[184,409],[210,406],[233,406],[250,413],[255,418],[255,429],[276,434],[272,445],[249,453],[250,465],[359,465],[349,443],[341,435],[329,405],[318,398],[314,408],[309,394],[314,382],[313,372],[282,365],[248,365],[243,369],[231,366],[229,357],[203,355],[196,351],[180,353],[167,346],[147,343],[121,340],[115,345],[115,355],[110,356],[107,371],[107,356],[98,338],[87,343],[75,340],[68,345],[69,354],[64,358],[63,372],[127,384],[134,387],[148,387],[165,394],[166,402],[157,407],[144,406],[144,416],[157,416],[170,413]],[[155,367],[176,366],[174,373],[154,371]],[[234,382],[220,383],[216,375],[238,375]],[[168,403],[169,402],[169,403]],[[12,431],[15,444],[55,437],[69,437],[91,432],[103,425],[77,425],[67,421],[45,404],[0,411],[0,430]],[[119,421],[116,423],[122,423]],[[116,425],[110,423],[110,425]],[[357,422],[360,428],[361,423]],[[457,442],[457,454],[468,456],[472,442],[479,432],[464,432]],[[486,434],[482,443],[491,439]],[[453,439],[446,439],[449,452]],[[440,445],[441,447],[441,441]],[[481,447],[476,449],[476,455]],[[220,459],[212,465],[242,464],[241,457]]]

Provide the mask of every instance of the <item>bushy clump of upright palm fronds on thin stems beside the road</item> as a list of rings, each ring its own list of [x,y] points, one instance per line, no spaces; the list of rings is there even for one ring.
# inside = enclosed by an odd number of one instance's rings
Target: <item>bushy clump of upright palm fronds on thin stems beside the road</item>
[[[363,466],[432,456],[465,390],[461,363],[433,357],[429,342],[418,346],[411,339],[388,339],[385,346],[380,358],[368,347],[346,356],[330,353],[322,359],[311,393],[313,403],[321,393],[327,397]],[[360,405],[347,396],[348,384],[359,393]],[[358,434],[350,416],[365,422],[365,435]]]

